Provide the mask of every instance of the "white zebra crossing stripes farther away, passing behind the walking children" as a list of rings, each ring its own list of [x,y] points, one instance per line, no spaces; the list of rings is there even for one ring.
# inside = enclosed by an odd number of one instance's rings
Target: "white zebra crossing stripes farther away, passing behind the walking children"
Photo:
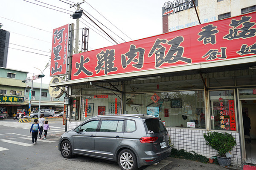
[[[29,130],[31,127],[31,123],[20,123],[20,122],[13,122],[13,121],[0,122],[0,125],[6,126],[6,127],[15,127],[15,128],[19,128],[19,129],[29,129]],[[64,133],[64,131],[65,131],[64,127],[50,126],[50,130],[48,130],[48,134],[49,133],[60,133],[60,132]]]

